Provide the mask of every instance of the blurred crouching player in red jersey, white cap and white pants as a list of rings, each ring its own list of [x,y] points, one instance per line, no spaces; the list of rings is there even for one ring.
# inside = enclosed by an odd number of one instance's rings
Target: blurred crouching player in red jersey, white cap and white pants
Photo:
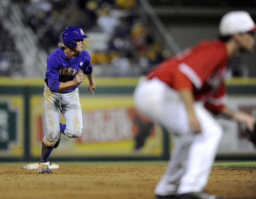
[[[254,118],[225,105],[224,77],[230,58],[253,52],[256,26],[245,11],[220,21],[219,39],[203,41],[141,78],[134,91],[138,110],[172,133],[174,149],[155,188],[157,199],[217,199],[203,191],[222,128],[210,114],[224,114],[253,129]]]

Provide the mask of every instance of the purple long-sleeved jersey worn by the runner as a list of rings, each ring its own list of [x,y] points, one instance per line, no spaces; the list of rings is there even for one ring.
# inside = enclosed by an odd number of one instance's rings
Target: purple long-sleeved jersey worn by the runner
[[[85,50],[74,58],[66,57],[62,48],[53,50],[47,59],[47,69],[44,81],[50,91],[58,92],[61,82],[71,81],[76,77],[76,74],[83,71],[84,74],[92,73],[91,56]],[[77,86],[71,89],[62,91],[68,93],[75,90]]]

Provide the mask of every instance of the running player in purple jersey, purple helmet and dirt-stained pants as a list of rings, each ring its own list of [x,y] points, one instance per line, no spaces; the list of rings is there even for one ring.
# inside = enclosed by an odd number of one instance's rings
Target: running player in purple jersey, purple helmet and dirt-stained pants
[[[46,134],[42,142],[41,161],[38,173],[52,173],[49,157],[53,148],[60,143],[60,134],[68,138],[81,136],[83,123],[79,101],[78,86],[86,74],[87,88],[91,94],[96,84],[92,77],[91,56],[85,50],[84,38],[87,36],[78,27],[66,28],[62,34],[63,43],[53,50],[47,59],[44,85],[44,117]],[[60,123],[60,115],[66,124]]]

